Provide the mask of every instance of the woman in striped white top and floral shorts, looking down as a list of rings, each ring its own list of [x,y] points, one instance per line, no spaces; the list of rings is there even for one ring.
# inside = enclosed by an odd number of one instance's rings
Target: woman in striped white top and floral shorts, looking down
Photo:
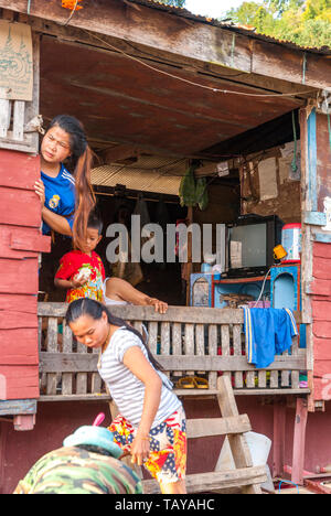
[[[87,298],[70,304],[66,322],[78,342],[100,350],[99,374],[120,412],[109,427],[115,442],[149,470],[163,494],[184,494],[185,413],[143,337]]]

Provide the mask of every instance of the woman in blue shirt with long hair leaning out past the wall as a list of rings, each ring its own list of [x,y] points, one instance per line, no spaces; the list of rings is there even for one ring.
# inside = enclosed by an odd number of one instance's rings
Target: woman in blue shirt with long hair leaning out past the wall
[[[67,160],[73,174],[63,164]],[[82,123],[70,115],[58,115],[42,140],[41,181],[35,183],[43,234],[72,236],[74,246],[85,238],[88,216],[95,207],[90,166],[92,151]]]

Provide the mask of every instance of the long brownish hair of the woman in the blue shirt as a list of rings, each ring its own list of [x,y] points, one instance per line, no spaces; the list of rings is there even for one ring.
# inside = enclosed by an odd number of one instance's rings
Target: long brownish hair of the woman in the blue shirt
[[[57,115],[50,123],[67,132],[71,143],[71,164],[76,186],[76,208],[73,227],[74,246],[82,248],[86,240],[88,217],[96,205],[95,194],[90,184],[93,152],[87,143],[84,127],[77,118],[71,115]]]

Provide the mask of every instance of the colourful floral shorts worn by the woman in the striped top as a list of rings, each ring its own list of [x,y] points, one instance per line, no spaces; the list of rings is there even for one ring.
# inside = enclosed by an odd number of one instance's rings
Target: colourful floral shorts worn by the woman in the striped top
[[[137,429],[122,416],[117,416],[108,428],[114,441],[127,452]],[[185,479],[186,472],[186,419],[183,408],[173,412],[166,421],[149,432],[150,455],[145,467],[159,483],[167,484]]]

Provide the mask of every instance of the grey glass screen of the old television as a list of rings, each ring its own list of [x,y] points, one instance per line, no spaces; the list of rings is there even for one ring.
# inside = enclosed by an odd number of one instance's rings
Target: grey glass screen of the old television
[[[266,267],[267,226],[252,224],[229,229],[229,267]]]

